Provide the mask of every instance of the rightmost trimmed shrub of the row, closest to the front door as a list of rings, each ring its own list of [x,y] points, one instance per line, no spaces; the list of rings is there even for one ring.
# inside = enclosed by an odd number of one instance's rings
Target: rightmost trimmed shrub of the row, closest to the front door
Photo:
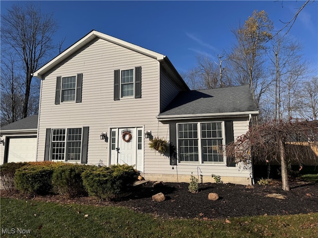
[[[126,191],[137,178],[132,166],[94,167],[82,173],[84,187],[90,196],[111,200]]]

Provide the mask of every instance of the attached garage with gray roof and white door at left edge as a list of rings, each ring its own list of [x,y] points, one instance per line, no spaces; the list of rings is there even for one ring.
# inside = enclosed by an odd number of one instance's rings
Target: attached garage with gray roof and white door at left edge
[[[0,164],[36,161],[37,124],[34,115],[1,127]]]

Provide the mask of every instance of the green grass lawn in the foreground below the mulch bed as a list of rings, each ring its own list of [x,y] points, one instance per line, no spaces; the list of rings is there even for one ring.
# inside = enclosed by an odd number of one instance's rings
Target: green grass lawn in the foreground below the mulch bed
[[[205,221],[162,219],[113,206],[1,198],[2,238],[318,237],[318,213]]]

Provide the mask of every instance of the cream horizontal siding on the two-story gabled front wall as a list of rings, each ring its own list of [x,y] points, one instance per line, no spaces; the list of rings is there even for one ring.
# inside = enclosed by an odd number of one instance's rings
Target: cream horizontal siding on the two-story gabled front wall
[[[114,70],[142,67],[142,98],[123,98],[114,101]],[[56,77],[83,74],[80,104],[54,104]],[[87,164],[108,163],[108,142],[100,140],[100,133],[109,128],[145,126],[157,134],[159,113],[159,62],[121,46],[98,39],[87,45],[77,55],[53,70],[41,82],[39,115],[38,160],[44,159],[46,128],[73,128],[89,126]],[[159,128],[161,131],[161,127]],[[166,133],[168,125],[163,125]],[[160,134],[159,136],[163,136]],[[164,135],[165,135],[164,133]],[[110,141],[110,140],[109,140]],[[149,143],[149,142],[148,142]],[[143,153],[159,157],[145,143]],[[151,165],[152,166],[152,165]]]

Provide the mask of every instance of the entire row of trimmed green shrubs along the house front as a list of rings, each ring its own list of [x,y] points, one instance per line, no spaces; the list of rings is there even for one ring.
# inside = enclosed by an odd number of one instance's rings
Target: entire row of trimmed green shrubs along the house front
[[[3,171],[2,171],[3,168]],[[97,167],[64,162],[9,163],[1,174],[14,191],[30,195],[56,192],[72,198],[83,195],[110,200],[125,192],[137,179],[132,166]],[[13,184],[14,181],[14,184]]]

